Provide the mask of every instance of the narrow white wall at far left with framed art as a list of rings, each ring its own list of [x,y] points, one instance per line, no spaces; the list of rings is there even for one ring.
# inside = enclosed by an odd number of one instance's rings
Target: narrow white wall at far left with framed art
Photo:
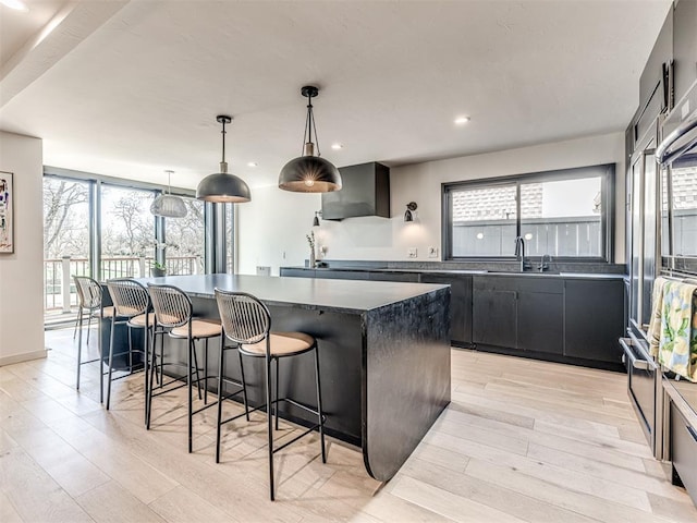
[[[0,365],[46,357],[42,145],[0,131],[0,170],[14,173],[14,254],[0,255]]]

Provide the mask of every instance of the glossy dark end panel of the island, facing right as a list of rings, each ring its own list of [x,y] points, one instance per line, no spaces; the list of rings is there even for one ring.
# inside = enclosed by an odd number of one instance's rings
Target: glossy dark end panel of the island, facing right
[[[363,458],[390,479],[450,403],[450,288],[365,315]]]

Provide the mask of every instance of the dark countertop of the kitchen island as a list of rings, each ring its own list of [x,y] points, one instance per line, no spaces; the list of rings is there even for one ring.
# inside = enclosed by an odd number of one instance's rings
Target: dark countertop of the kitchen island
[[[363,313],[409,300],[448,285],[389,281],[279,278],[245,275],[195,275],[142,278],[142,283],[167,283],[193,297],[213,297],[216,288],[246,292],[268,305],[297,305],[335,312]]]

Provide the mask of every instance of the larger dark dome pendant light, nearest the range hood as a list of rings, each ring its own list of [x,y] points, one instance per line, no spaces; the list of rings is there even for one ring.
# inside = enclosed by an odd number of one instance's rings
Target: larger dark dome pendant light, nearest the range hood
[[[313,98],[319,89],[314,85],[306,85],[301,94],[307,98],[307,118],[305,119],[305,133],[303,133],[303,155],[292,159],[279,175],[279,187],[296,193],[331,193],[341,188],[341,174],[330,161],[320,158],[317,127],[313,114]],[[317,156],[313,143],[313,131],[317,141]]]

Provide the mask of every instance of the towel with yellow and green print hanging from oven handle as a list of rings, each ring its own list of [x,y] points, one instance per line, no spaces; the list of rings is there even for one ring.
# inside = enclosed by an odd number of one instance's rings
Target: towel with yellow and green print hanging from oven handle
[[[665,281],[658,348],[661,365],[694,382],[697,382],[696,293],[695,284]]]

